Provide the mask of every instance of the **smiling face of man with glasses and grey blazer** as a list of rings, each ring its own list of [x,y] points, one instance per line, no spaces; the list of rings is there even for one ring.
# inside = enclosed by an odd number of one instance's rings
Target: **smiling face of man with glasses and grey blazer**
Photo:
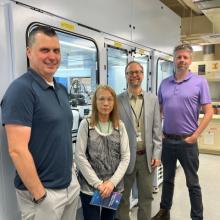
[[[126,80],[128,87],[139,88],[144,79],[142,67],[138,63],[131,63],[126,69]]]

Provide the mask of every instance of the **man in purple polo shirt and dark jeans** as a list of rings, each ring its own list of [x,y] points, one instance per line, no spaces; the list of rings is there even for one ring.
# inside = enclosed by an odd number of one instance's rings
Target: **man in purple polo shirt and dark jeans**
[[[160,211],[152,220],[169,220],[172,206],[176,162],[183,167],[191,203],[191,218],[203,219],[202,194],[197,171],[199,152],[197,138],[212,119],[213,109],[207,81],[189,70],[192,47],[174,49],[174,75],[159,88],[159,102],[164,116],[162,163],[164,172]],[[204,117],[198,126],[199,111]]]

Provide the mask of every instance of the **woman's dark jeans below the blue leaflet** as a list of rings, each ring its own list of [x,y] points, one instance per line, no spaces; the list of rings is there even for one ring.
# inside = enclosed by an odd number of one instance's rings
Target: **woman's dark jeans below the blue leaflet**
[[[90,205],[92,196],[80,193],[84,220],[114,220],[115,210]]]

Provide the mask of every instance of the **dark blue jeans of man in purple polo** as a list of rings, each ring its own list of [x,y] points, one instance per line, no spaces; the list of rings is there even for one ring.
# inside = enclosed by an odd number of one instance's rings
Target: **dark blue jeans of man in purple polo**
[[[197,175],[199,169],[197,143],[188,144],[184,140],[163,139],[163,190],[160,207],[163,209],[171,209],[177,160],[179,160],[183,167],[186,177],[191,203],[191,218],[193,220],[202,220],[202,193]]]

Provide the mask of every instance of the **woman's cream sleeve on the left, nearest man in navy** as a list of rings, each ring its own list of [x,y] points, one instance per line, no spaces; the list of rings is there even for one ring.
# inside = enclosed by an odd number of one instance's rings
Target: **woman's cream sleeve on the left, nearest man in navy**
[[[86,119],[83,119],[80,123],[76,139],[75,162],[86,181],[91,186],[97,188],[97,186],[102,183],[102,180],[98,178],[86,157],[88,129],[88,122]]]

